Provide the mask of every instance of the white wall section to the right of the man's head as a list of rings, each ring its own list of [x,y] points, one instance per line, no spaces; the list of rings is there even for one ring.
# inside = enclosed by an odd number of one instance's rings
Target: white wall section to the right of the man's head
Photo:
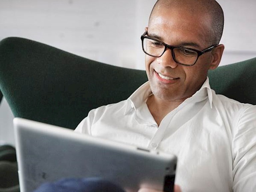
[[[256,1],[218,0],[225,16],[221,65],[256,57]]]

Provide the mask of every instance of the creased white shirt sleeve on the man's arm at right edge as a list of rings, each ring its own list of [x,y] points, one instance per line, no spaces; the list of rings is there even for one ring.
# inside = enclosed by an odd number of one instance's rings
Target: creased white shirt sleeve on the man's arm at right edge
[[[233,191],[256,191],[256,106],[241,114],[232,143]]]

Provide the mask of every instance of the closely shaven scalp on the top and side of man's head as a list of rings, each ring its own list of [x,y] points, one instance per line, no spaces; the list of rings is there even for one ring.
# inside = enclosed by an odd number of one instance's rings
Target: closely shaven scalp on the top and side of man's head
[[[168,9],[170,12],[186,12],[191,16],[196,14],[203,17],[208,16],[211,29],[209,29],[209,35],[205,37],[205,40],[210,44],[219,44],[223,33],[224,14],[221,6],[215,0],[158,0],[151,11],[149,25],[152,17],[157,16],[162,9]]]

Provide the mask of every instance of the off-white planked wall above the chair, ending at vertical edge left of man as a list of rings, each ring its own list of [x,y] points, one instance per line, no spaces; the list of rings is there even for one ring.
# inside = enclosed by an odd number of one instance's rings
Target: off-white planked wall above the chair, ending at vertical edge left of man
[[[128,65],[136,1],[1,0],[0,38],[25,37],[91,59]],[[128,46],[127,46],[128,45]],[[134,67],[130,62],[129,67]]]

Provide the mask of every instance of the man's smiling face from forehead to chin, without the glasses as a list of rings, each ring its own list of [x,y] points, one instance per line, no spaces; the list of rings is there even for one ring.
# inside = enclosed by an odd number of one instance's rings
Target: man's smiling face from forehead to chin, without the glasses
[[[209,16],[200,14],[190,14],[178,9],[157,10],[146,28],[148,36],[172,46],[185,46],[202,51],[211,46],[206,41],[210,35],[211,23]],[[211,52],[201,55],[193,66],[177,64],[170,49],[158,58],[146,55],[146,72],[154,96],[172,102],[182,102],[191,97],[206,80],[208,69],[217,67],[212,61]]]

